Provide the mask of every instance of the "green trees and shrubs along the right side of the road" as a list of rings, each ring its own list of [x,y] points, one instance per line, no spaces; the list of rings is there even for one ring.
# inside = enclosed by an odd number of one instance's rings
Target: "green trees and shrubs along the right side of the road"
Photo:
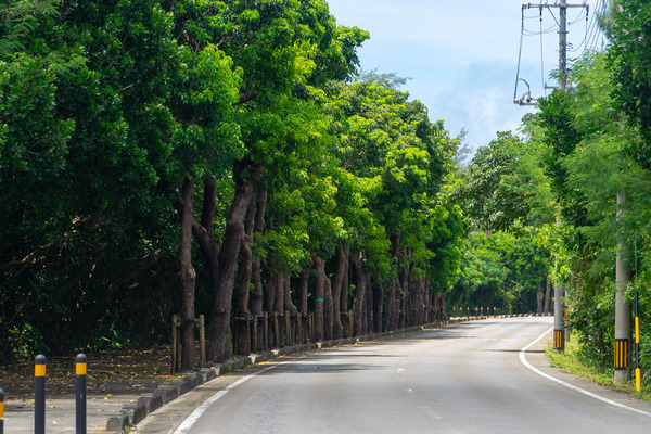
[[[527,266],[563,283],[578,355],[604,370],[613,365],[617,253],[633,275],[625,302],[639,290],[641,323],[651,322],[649,8],[642,0],[611,2],[601,17],[611,43],[576,60],[571,88],[538,102],[538,112],[523,119],[520,140],[501,133],[481,149],[457,189],[476,230],[515,235],[512,243],[528,244],[523,253],[534,255]],[[625,197],[618,218],[617,195]],[[460,303],[487,303],[483,293],[509,288],[519,268],[505,259],[512,247],[499,245],[509,234],[471,237],[457,284]],[[542,275],[523,276],[535,283]],[[644,330],[642,366],[651,353]],[[644,384],[650,381],[647,373]]]

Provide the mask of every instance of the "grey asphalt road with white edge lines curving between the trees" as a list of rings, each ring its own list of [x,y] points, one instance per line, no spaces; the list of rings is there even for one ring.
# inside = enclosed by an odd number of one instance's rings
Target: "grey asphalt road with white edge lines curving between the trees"
[[[214,395],[175,432],[651,431],[648,404],[634,404],[648,413],[618,408],[523,365],[521,349],[552,323],[544,317],[484,320],[272,365]],[[526,358],[548,365],[541,348]]]

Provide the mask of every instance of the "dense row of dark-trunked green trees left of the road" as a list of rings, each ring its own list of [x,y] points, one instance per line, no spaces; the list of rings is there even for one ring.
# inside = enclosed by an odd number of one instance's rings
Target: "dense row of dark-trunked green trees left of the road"
[[[0,354],[445,316],[458,141],[323,0],[0,1]],[[305,283],[305,284],[304,284]],[[320,302],[326,301],[324,304]],[[436,308],[434,308],[436,305]],[[296,307],[298,306],[298,307]],[[384,315],[383,315],[384,314]]]

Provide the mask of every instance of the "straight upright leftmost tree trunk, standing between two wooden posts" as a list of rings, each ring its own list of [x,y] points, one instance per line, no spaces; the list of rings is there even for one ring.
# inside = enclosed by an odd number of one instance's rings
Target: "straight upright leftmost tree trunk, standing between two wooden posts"
[[[192,220],[194,180],[184,179],[181,189],[181,369],[194,369],[194,292],[196,272],[192,267]]]

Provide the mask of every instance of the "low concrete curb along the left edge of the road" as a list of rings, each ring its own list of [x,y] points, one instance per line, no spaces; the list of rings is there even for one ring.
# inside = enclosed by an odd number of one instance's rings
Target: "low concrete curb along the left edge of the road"
[[[499,315],[493,317],[450,318],[446,321],[432,322],[424,326],[409,327],[382,333],[372,333],[363,336],[346,337],[326,342],[314,342],[303,345],[286,346],[279,349],[265,350],[260,354],[240,356],[225,363],[215,363],[212,368],[202,368],[199,371],[189,372],[183,379],[173,380],[171,384],[159,385],[153,393],[143,393],[137,403],[128,403],[123,406],[118,413],[110,414],[106,422],[106,432],[125,433],[130,426],[141,422],[146,416],[165,404],[178,398],[189,391],[197,387],[217,376],[237,372],[251,365],[257,365],[275,360],[283,356],[298,353],[307,353],[321,348],[331,348],[343,345],[355,345],[361,342],[376,341],[382,337],[397,337],[410,333],[417,333],[425,329],[444,327],[459,322],[470,322],[490,318],[518,318],[518,317],[546,316],[541,314],[527,315]]]

